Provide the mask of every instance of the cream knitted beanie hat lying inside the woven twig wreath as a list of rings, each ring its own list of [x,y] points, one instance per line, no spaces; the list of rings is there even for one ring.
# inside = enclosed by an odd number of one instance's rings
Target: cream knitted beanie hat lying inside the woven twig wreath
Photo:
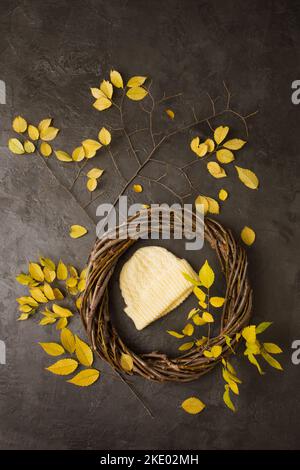
[[[158,246],[140,248],[124,264],[120,274],[124,310],[138,330],[171,312],[191,294],[193,285],[182,272],[198,279],[187,261]]]

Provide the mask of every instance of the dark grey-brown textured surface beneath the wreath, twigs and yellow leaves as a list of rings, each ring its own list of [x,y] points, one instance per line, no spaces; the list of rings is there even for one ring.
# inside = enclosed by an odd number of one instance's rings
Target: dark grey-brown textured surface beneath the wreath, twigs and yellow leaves
[[[7,365],[0,365],[1,448],[22,449],[256,449],[299,447],[300,366],[291,363],[291,343],[300,336],[299,304],[299,113],[292,105],[291,82],[299,79],[300,30],[296,1],[1,1],[0,78],[7,84],[7,105],[0,105],[1,158],[1,297],[0,339],[6,341]],[[11,120],[16,114],[38,122],[48,115],[62,129],[57,147],[71,151],[83,138],[95,137],[105,118],[91,107],[90,86],[97,86],[111,67],[125,76],[153,78],[153,91],[185,93],[206,115],[205,95],[220,95],[222,81],[233,92],[233,105],[241,112],[259,109],[249,121],[250,142],[240,152],[241,166],[259,176],[259,191],[245,188],[229,170],[224,183],[207,176],[199,165],[191,176],[199,192],[217,195],[230,191],[219,219],[238,234],[252,226],[257,242],[249,250],[255,292],[255,322],[274,321],[265,337],[280,343],[284,373],[267,366],[265,377],[241,358],[233,360],[243,378],[241,395],[232,414],[222,403],[220,370],[188,385],[159,385],[132,379],[152,409],[150,418],[130,390],[100,361],[99,382],[78,389],[43,368],[51,363],[36,345],[51,341],[53,327],[16,322],[15,275],[38,253],[62,257],[83,266],[94,240],[88,216],[63,186],[47,172],[37,156],[11,155],[6,147]],[[191,119],[185,103],[175,101],[176,118]],[[185,111],[184,111],[185,110]],[[165,117],[161,125],[172,126]],[[133,117],[134,119],[134,117]],[[117,119],[116,119],[117,122]],[[224,122],[224,121],[222,121]],[[243,137],[237,120],[227,119]],[[214,124],[217,124],[215,122]],[[197,130],[200,135],[207,128]],[[190,135],[166,145],[160,158],[190,161]],[[147,146],[147,142],[142,142]],[[124,147],[123,147],[124,148]],[[134,161],[126,151],[120,166],[129,175]],[[105,168],[102,201],[110,201],[119,181],[108,157],[94,160]],[[54,159],[51,165],[61,183],[74,172]],[[149,169],[150,171],[150,169]],[[152,170],[151,170],[152,171]],[[153,169],[157,171],[157,169]],[[169,183],[182,184],[169,173]],[[85,201],[84,188],[77,197]],[[135,200],[172,200],[155,185]],[[192,199],[191,199],[192,201]],[[93,216],[93,210],[90,211]],[[71,240],[68,227],[82,223],[88,236]],[[172,246],[172,245],[170,245]],[[182,246],[173,251],[184,255]],[[196,268],[205,256],[188,254]],[[121,300],[113,285],[115,321],[127,341],[137,349],[172,348],[175,340],[167,326],[182,325],[176,312],[140,336],[122,323]],[[298,296],[298,297],[297,297]],[[181,310],[182,311],[182,310]],[[79,321],[74,328],[82,332]],[[176,343],[177,344],[177,343]],[[180,409],[182,400],[197,395],[207,404],[199,416]]]

